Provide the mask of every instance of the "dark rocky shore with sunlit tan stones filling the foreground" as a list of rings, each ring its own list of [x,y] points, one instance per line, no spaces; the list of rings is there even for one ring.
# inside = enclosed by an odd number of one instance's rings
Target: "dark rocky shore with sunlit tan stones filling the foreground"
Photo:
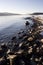
[[[8,45],[1,45],[0,65],[43,65],[43,24],[32,19],[34,24],[14,36]]]

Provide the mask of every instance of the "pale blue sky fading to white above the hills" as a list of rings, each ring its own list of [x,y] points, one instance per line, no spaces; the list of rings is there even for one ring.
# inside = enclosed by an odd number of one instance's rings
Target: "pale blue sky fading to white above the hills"
[[[43,0],[0,0],[0,12],[43,12]]]

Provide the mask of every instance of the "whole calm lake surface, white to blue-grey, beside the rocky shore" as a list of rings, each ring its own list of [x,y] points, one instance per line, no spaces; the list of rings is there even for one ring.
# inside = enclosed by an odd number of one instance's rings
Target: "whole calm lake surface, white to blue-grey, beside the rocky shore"
[[[25,29],[25,17],[29,15],[0,16],[0,42],[9,40],[19,30]]]

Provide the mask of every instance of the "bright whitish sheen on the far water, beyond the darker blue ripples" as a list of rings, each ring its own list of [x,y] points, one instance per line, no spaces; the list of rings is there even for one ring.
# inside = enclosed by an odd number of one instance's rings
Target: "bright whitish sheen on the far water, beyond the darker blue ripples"
[[[21,21],[23,17],[25,17],[25,15],[0,16],[0,30],[17,22],[20,23],[19,21]]]

